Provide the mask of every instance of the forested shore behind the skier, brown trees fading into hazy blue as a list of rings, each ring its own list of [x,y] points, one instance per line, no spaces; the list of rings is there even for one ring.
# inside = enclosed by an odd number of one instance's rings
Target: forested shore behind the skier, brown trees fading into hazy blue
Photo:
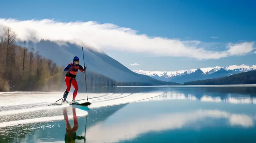
[[[0,91],[62,91],[65,67],[40,55],[34,48],[28,49],[15,43],[16,34],[10,28],[0,35]],[[78,72],[79,89],[85,88],[84,73]],[[99,73],[86,70],[87,87],[150,86],[143,82],[117,82]],[[171,82],[156,82],[156,85],[172,85]],[[80,90],[81,91],[81,90]]]

